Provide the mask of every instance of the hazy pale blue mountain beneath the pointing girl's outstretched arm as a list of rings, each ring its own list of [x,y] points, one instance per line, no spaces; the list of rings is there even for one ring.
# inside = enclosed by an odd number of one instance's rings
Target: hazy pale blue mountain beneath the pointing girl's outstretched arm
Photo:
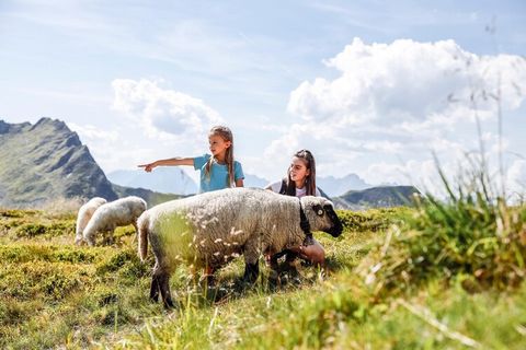
[[[108,173],[107,178],[119,186],[148,188],[164,194],[192,195],[198,191],[195,182],[176,166],[159,166],[151,173],[142,168],[119,170]]]

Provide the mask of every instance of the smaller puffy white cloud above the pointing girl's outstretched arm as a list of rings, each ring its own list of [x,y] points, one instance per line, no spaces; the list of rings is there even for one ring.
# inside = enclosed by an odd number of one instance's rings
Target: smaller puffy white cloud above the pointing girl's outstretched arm
[[[150,137],[205,139],[208,129],[222,121],[202,100],[167,90],[150,80],[116,79],[114,109],[141,124]]]

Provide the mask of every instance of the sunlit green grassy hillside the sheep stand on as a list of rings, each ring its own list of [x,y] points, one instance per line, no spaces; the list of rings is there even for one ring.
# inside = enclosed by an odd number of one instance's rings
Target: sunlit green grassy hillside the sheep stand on
[[[441,215],[465,213],[454,207],[339,213],[341,238],[317,234],[328,273],[299,265],[276,280],[263,268],[244,289],[235,261],[211,289],[181,267],[171,280],[179,308],[167,312],[148,301],[151,254],[138,260],[132,226],[76,247],[73,212],[0,210],[0,348],[526,347],[524,208],[499,224],[506,240],[483,214],[465,230],[474,237],[450,238]]]

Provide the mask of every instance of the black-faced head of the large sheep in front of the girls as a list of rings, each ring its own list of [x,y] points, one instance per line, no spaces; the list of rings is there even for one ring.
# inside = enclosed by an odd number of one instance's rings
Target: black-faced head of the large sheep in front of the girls
[[[323,231],[338,237],[342,234],[342,222],[334,211],[334,205],[327,198],[306,196],[301,198],[311,231]]]

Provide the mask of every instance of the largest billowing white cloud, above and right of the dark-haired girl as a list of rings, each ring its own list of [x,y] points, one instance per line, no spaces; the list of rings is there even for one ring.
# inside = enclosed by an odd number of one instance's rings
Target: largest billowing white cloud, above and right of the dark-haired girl
[[[297,119],[265,156],[311,148],[320,170],[358,173],[369,183],[428,176],[436,172],[430,166],[433,151],[455,170],[467,152],[479,149],[476,116],[493,121],[496,102],[502,110],[514,110],[526,91],[524,58],[478,56],[454,40],[355,38],[324,65],[336,75],[305,81],[290,93],[287,110]],[[487,150],[496,151],[495,132],[482,139]]]

